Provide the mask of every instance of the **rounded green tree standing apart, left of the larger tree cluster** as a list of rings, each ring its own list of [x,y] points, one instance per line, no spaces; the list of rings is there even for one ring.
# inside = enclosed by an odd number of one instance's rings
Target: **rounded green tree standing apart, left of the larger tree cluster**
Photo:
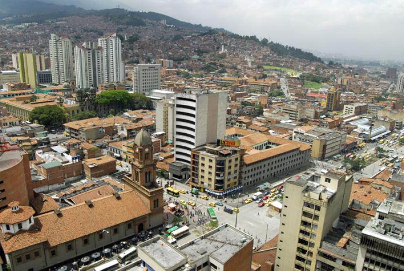
[[[67,114],[58,105],[44,105],[36,107],[29,114],[31,122],[37,122],[45,127],[59,126],[66,122]]]

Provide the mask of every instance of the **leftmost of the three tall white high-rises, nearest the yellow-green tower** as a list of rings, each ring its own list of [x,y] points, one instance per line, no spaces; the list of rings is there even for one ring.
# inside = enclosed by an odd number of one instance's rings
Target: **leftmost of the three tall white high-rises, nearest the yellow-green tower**
[[[49,40],[52,82],[63,84],[73,79],[73,48],[72,41],[67,37],[51,34]]]

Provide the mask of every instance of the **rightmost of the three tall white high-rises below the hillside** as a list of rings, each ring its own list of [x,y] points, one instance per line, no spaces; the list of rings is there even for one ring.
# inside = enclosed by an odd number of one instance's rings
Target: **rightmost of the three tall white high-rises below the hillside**
[[[98,38],[102,48],[104,83],[125,79],[125,65],[122,62],[122,44],[116,33]]]

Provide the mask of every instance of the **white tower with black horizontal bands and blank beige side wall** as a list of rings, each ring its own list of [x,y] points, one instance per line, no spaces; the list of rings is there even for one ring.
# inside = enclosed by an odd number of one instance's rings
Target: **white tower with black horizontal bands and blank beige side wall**
[[[226,133],[227,92],[192,90],[175,96],[175,161],[187,166],[191,149],[216,142]]]

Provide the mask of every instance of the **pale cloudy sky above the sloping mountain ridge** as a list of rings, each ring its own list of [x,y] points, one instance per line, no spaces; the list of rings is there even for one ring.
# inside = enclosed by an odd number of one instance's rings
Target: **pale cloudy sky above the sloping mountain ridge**
[[[404,61],[402,0],[45,0],[86,9],[153,11],[290,46]]]

